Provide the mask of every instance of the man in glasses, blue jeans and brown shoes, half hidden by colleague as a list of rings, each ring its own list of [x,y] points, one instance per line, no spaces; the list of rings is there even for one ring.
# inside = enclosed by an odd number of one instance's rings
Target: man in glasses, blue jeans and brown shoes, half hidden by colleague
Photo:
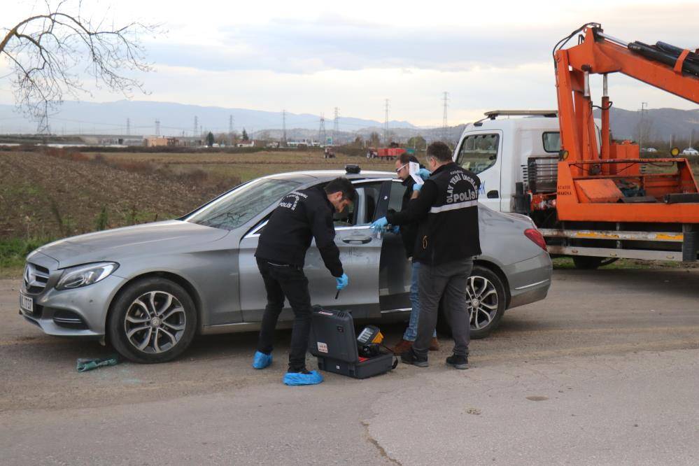
[[[417,157],[410,155],[408,153],[403,153],[395,161],[395,172],[403,182],[402,185],[405,186],[405,192],[403,193],[403,199],[401,203],[401,211],[408,209],[408,204],[410,202],[410,197],[413,195],[413,189],[415,181],[412,176],[410,176],[409,164],[410,162],[419,163]],[[430,178],[430,172],[425,168],[421,168],[417,173],[423,180]],[[391,210],[389,213],[394,213]],[[372,223],[372,228],[376,231],[383,230],[388,225],[388,220],[386,217],[379,218],[374,223]],[[398,230],[398,227],[394,227]],[[393,352],[396,354],[405,353],[413,346],[418,334],[418,319],[420,317],[420,299],[418,299],[418,276],[420,272],[420,262],[412,260],[413,251],[415,249],[415,238],[418,230],[417,223],[404,223],[400,225],[400,237],[403,241],[403,246],[405,248],[405,255],[411,259],[411,284],[410,284],[410,320],[407,329],[403,333],[403,338],[398,342],[396,346],[393,347]],[[439,341],[437,340],[437,332],[432,334],[432,340],[430,341],[430,351],[439,351]]]

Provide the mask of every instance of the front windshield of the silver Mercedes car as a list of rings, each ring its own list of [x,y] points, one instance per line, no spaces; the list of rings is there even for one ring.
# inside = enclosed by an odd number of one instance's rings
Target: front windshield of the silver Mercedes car
[[[183,220],[207,227],[233,230],[267,209],[299,184],[301,183],[297,181],[274,178],[250,181],[190,213]]]

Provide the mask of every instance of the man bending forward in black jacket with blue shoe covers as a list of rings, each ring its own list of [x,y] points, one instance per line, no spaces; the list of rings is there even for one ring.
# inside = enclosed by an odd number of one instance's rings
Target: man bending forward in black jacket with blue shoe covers
[[[311,385],[323,381],[318,372],[306,369],[306,348],[311,331],[311,295],[304,274],[306,250],[315,238],[325,267],[337,280],[337,289],[346,287],[348,278],[334,242],[332,216],[353,202],[355,194],[347,178],[335,178],[323,188],[290,192],[281,199],[260,234],[255,257],[267,290],[267,306],[262,316],[253,367],[264,369],[271,364],[274,329],[286,297],[294,311],[289,369],[284,376],[287,385]]]

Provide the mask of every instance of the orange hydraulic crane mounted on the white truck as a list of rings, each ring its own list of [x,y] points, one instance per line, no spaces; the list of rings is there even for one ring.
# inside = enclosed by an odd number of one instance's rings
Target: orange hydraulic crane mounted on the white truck
[[[699,189],[687,160],[641,159],[636,144],[610,140],[607,74],[623,73],[699,103],[699,55],[664,43],[625,43],[604,34],[596,23],[586,24],[564,41],[579,32],[578,45],[554,49],[561,134],[558,220],[677,223],[686,232],[696,230]],[[591,74],[601,74],[604,80],[600,143],[593,120]],[[664,162],[672,162],[677,170],[663,174],[641,170],[643,164]],[[637,193],[634,199],[624,194],[629,189]]]

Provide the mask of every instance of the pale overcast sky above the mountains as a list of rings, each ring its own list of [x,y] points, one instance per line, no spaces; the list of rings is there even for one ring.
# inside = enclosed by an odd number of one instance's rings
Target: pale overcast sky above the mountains
[[[3,0],[0,25],[42,11],[41,1]],[[150,94],[134,99],[330,118],[337,106],[374,120],[390,99],[390,119],[426,126],[442,124],[444,91],[450,125],[495,108],[555,108],[551,49],[585,22],[627,41],[699,47],[697,1],[120,0],[83,1],[83,13],[167,29],[144,38],[156,71],[142,76]],[[609,86],[621,108],[697,107],[623,76]],[[122,98],[97,90],[84,100]],[[0,103],[13,103],[7,78]]]

